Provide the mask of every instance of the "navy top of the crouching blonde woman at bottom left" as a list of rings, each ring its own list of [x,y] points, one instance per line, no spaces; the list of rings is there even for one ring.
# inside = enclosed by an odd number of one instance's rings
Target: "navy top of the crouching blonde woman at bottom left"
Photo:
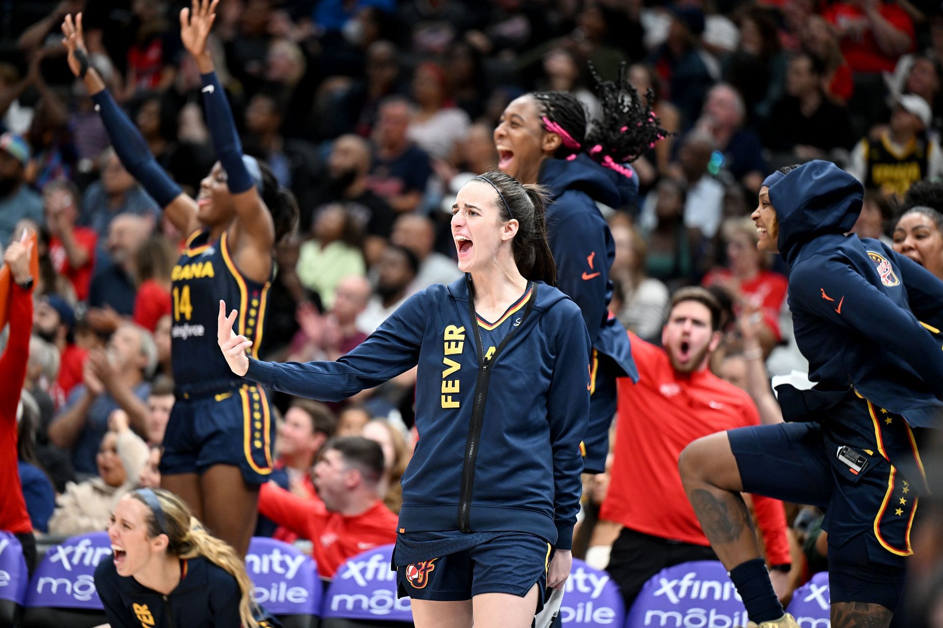
[[[95,589],[111,628],[238,628],[241,620],[239,583],[207,558],[181,560],[180,584],[164,596],[130,576],[122,576],[111,560],[95,568]],[[281,624],[265,611],[256,615],[263,628]]]

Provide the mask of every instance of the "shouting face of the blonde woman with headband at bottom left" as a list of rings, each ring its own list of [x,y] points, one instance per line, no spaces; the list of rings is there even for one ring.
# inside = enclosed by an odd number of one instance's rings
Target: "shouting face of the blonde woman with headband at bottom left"
[[[141,572],[156,556],[163,556],[167,537],[156,539],[147,536],[147,520],[150,508],[131,495],[118,501],[108,523],[108,539],[111,541],[111,559],[118,575],[129,576]]]

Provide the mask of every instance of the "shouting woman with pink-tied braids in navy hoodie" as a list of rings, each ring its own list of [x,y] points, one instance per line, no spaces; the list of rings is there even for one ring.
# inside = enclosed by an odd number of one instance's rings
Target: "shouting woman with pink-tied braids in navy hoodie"
[[[617,83],[594,78],[602,114],[592,128],[571,93],[538,91],[507,105],[494,144],[498,168],[525,184],[546,186],[554,201],[547,208],[547,231],[558,286],[580,306],[593,347],[584,467],[602,473],[616,413],[616,378],[637,381],[638,372],[628,334],[607,310],[616,244],[596,202],[619,209],[633,201],[638,176],[623,164],[668,132],[648,105],[654,102],[652,90],[640,99],[624,64]]]

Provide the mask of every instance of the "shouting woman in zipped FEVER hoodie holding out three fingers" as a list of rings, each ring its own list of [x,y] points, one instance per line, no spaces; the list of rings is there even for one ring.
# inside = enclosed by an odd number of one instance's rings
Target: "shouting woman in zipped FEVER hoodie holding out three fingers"
[[[409,298],[337,362],[248,358],[220,303],[233,372],[290,395],[340,401],[419,365],[394,563],[420,628],[530,626],[570,573],[590,346],[553,287],[545,203],[499,171],[472,179],[452,210],[466,276]]]

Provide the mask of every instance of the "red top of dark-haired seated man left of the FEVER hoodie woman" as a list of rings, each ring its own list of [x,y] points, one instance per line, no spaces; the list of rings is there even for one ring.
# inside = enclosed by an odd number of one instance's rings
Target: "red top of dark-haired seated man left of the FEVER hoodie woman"
[[[258,511],[314,543],[318,575],[333,578],[344,561],[377,545],[396,541],[397,516],[377,500],[366,512],[345,517],[321,500],[309,501],[272,483],[258,493]]]

